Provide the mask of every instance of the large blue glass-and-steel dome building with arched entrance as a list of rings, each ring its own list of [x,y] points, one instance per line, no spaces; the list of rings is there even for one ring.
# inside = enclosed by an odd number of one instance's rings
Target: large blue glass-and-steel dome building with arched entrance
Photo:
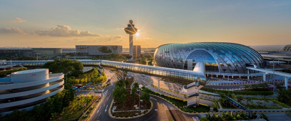
[[[265,67],[263,57],[254,49],[227,42],[172,43],[159,46],[154,54],[155,65],[187,70],[199,61],[205,63],[206,72],[246,74],[246,63]]]

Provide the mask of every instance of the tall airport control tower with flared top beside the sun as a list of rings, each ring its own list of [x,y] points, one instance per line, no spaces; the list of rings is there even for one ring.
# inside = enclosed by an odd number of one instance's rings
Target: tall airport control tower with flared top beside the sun
[[[129,56],[132,56],[128,61],[133,62],[133,34],[137,32],[137,29],[134,28],[132,20],[129,20],[127,27],[124,28],[124,31],[129,34]]]

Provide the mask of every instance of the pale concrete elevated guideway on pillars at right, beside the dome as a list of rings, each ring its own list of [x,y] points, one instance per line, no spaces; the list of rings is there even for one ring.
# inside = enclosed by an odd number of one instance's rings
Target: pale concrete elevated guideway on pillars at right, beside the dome
[[[276,74],[276,75],[280,75],[280,76],[285,76],[285,89],[288,89],[288,77],[291,77],[291,74],[289,73],[285,73],[285,72],[278,72],[278,71],[273,71],[273,70],[268,70],[268,69],[263,69],[263,68],[254,68],[254,67],[246,67],[246,69],[250,69],[250,70],[255,70],[255,71],[260,71],[260,72],[264,72],[263,75],[263,80],[266,81],[266,74],[270,73],[270,74]],[[249,71],[248,71],[249,72]]]

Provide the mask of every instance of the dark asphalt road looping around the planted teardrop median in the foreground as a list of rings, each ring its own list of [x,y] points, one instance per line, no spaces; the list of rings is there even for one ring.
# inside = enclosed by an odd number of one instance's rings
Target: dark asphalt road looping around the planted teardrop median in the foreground
[[[104,91],[107,93],[104,94],[103,99],[99,102],[97,107],[95,108],[93,115],[90,117],[90,121],[100,120],[100,121],[116,121],[116,120],[122,120],[122,121],[169,121],[169,120],[175,120],[175,121],[193,121],[198,120],[199,115],[190,115],[190,114],[184,114],[178,110],[175,106],[172,104],[166,102],[163,99],[160,99],[159,97],[151,96],[151,101],[153,102],[153,108],[152,110],[141,117],[138,118],[132,118],[132,119],[114,119],[111,118],[108,114],[108,110],[110,107],[110,104],[112,102],[113,96],[111,95],[114,87],[115,82],[118,80],[116,74],[113,72],[107,70],[105,71],[106,75],[113,76],[113,86],[109,86]],[[91,93],[92,94],[92,93]],[[102,95],[103,96],[103,95]]]

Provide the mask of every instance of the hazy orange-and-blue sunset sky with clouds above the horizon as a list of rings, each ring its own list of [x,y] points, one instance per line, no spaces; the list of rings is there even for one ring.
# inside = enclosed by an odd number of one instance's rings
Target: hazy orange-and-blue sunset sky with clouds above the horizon
[[[0,0],[0,47],[291,44],[290,0]]]

